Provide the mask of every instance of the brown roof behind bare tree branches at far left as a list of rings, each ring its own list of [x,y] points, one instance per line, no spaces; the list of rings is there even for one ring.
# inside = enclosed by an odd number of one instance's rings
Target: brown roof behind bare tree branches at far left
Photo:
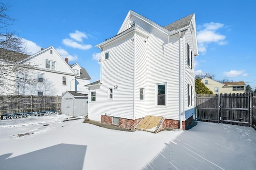
[[[29,57],[29,55],[19,53],[16,51],[8,50],[8,49],[0,49],[0,59],[4,61],[10,61],[10,62],[19,62],[22,61],[23,59],[26,59]]]

